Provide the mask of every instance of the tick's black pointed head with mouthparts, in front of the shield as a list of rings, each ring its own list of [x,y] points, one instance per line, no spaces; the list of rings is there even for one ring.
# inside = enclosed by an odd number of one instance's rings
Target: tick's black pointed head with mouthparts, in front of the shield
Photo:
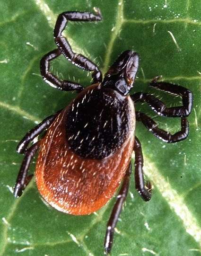
[[[123,52],[105,74],[102,85],[126,96],[133,87],[138,65],[137,53],[129,50]]]

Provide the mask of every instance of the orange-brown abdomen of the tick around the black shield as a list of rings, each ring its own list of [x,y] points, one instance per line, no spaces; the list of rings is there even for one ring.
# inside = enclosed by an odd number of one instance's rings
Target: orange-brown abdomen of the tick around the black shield
[[[135,116],[130,97],[128,104],[133,118],[129,134],[120,148],[102,159],[83,158],[70,148],[65,118],[70,106],[55,119],[41,142],[35,174],[46,202],[61,212],[84,215],[100,209],[114,195],[133,150]]]

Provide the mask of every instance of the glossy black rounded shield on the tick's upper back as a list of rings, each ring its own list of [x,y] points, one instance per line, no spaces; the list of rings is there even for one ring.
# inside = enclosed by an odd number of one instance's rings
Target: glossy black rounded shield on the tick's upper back
[[[87,159],[103,159],[119,149],[132,129],[127,97],[110,88],[84,90],[66,115],[70,149]]]

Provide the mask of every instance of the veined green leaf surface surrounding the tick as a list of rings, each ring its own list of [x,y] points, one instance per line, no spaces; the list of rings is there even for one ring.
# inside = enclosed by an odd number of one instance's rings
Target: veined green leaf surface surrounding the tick
[[[93,11],[99,23],[69,22],[65,35],[72,48],[94,60],[105,73],[124,50],[140,54],[132,91],[153,93],[167,106],[181,98],[148,87],[157,75],[190,88],[194,107],[185,141],[166,144],[142,124],[136,134],[144,153],[144,171],[153,185],[144,202],[130,192],[117,224],[111,256],[201,255],[201,2],[198,0],[0,0],[0,256],[102,256],[113,198],[96,214],[72,216],[48,207],[34,180],[24,194],[12,194],[23,156],[15,151],[24,134],[46,116],[67,106],[75,93],[49,87],[41,78],[41,57],[56,48],[53,26],[66,10]],[[52,71],[90,84],[90,74],[64,57]],[[180,119],[157,117],[149,106],[138,109],[170,132]],[[93,117],[92,117],[93,118]],[[31,166],[34,172],[35,160]]]

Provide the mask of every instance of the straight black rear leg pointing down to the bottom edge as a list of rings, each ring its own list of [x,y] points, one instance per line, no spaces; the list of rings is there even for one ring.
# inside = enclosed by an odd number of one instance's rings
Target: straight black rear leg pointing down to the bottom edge
[[[120,213],[122,212],[123,202],[125,201],[126,196],[128,194],[130,176],[131,176],[131,163],[130,163],[129,168],[127,169],[126,174],[123,178],[123,183],[122,183],[121,189],[119,191],[119,194],[117,195],[116,203],[114,204],[113,211],[110,215],[110,219],[107,222],[107,230],[106,230],[105,242],[104,242],[106,254],[110,253],[112,245],[113,245],[114,228],[116,227],[116,223],[118,221]]]

